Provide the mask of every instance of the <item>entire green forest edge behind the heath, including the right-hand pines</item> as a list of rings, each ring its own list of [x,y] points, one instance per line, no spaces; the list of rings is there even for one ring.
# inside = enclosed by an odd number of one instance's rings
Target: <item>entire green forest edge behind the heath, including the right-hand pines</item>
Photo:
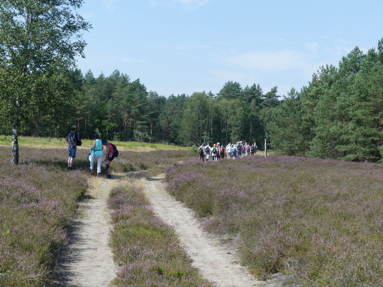
[[[278,99],[277,86],[228,81],[213,94],[160,96],[139,79],[115,70],[110,76],[71,72],[77,93],[66,119],[31,117],[23,134],[63,136],[79,126],[82,138],[94,132],[110,140],[196,145],[257,142],[276,152],[351,161],[382,160],[383,39],[363,54],[355,47],[338,67],[326,65],[307,86]]]

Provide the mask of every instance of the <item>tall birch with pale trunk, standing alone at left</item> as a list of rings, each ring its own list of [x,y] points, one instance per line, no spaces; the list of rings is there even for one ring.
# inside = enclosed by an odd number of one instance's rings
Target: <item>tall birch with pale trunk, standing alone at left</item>
[[[18,129],[22,122],[43,119],[59,128],[76,98],[69,72],[83,56],[80,33],[90,25],[73,10],[80,0],[0,3],[0,114],[12,125],[13,164],[18,163]],[[49,116],[41,116],[49,115]]]

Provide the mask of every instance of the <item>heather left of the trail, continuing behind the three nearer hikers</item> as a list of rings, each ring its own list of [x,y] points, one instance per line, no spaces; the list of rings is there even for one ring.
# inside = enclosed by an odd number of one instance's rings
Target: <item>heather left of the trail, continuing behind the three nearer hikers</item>
[[[91,145],[91,144],[89,144]],[[20,163],[11,166],[11,149],[0,146],[0,286],[45,286],[59,250],[68,242],[66,228],[91,179],[88,148],[77,150],[74,171],[67,171],[62,148],[20,147]],[[195,156],[186,150],[120,152],[113,178],[166,172]]]

